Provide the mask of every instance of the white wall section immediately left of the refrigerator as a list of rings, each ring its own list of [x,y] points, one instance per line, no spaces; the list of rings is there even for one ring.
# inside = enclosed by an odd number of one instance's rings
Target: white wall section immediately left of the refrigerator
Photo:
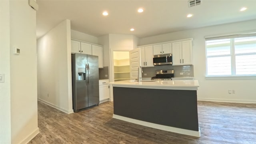
[[[70,20],[64,20],[38,39],[38,99],[72,113]]]

